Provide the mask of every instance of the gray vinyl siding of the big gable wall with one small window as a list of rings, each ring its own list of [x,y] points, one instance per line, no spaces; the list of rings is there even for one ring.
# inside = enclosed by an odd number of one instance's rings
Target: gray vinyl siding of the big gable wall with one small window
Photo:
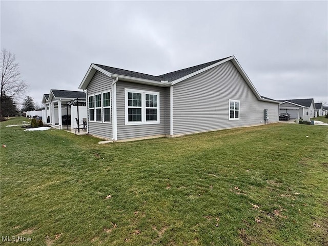
[[[229,120],[229,99],[240,101],[239,120]],[[278,122],[278,104],[258,100],[227,61],[173,86],[173,135],[260,125],[264,109]]]

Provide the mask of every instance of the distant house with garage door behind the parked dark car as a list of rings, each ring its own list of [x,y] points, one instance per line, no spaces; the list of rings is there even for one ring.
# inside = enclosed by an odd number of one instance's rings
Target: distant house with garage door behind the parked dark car
[[[310,120],[315,117],[315,105],[313,98],[308,99],[289,99],[279,100],[281,104],[279,106],[280,113],[289,113],[291,119]]]

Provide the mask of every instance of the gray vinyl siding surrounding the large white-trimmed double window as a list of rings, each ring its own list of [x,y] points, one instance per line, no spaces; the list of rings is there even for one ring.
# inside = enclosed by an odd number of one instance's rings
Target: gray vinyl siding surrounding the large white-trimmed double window
[[[159,124],[125,125],[125,88],[159,92]],[[118,80],[116,84],[117,140],[148,137],[165,134],[165,89]]]

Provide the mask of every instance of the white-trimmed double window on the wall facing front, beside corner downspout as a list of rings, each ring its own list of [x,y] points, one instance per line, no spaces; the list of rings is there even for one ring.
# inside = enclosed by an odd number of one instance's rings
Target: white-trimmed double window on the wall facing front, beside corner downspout
[[[125,89],[126,125],[159,123],[159,92]]]

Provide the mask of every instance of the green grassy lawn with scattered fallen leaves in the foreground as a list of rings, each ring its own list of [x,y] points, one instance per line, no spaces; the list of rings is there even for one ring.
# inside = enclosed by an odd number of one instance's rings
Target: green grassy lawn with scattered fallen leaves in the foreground
[[[1,123],[1,245],[328,245],[328,127],[98,145]]]

